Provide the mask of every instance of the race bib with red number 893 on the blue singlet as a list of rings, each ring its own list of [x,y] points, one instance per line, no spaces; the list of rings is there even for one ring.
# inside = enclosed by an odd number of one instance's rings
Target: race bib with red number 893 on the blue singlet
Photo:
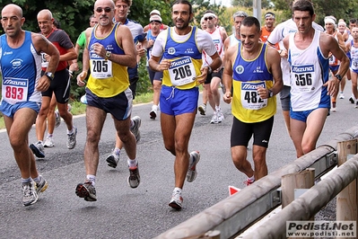
[[[6,77],[3,80],[2,93],[5,102],[14,104],[17,102],[26,102],[29,79]]]

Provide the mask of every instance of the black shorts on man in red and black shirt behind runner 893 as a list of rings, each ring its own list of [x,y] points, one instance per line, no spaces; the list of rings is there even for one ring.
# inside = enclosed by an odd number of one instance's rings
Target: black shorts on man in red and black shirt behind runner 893
[[[41,72],[41,75],[44,73],[45,72]],[[42,96],[52,97],[52,93],[55,93],[56,101],[59,103],[65,103],[68,102],[70,98],[70,91],[71,76],[68,73],[68,70],[65,68],[55,73],[55,77],[51,81],[48,90],[43,92]]]

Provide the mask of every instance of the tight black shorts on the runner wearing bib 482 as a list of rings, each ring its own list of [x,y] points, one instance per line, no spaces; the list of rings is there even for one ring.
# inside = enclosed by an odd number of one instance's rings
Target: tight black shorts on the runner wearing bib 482
[[[256,146],[268,147],[268,141],[274,126],[274,116],[257,123],[244,123],[233,117],[231,128],[231,147],[248,146],[249,139],[254,135]]]

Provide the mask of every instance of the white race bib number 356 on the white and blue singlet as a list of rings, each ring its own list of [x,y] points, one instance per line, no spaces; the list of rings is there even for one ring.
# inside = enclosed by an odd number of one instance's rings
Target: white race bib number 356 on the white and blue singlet
[[[308,93],[312,90],[312,75],[314,75],[314,66],[293,66],[294,79],[291,79],[295,87],[301,93]]]

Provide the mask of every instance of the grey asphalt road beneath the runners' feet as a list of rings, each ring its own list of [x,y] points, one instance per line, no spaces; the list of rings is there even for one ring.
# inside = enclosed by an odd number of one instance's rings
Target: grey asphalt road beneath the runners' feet
[[[327,118],[319,145],[357,124],[358,109],[348,102],[351,84],[345,87],[345,99],[337,100],[337,111]],[[200,99],[201,102],[201,99]],[[268,171],[274,172],[295,159],[293,143],[284,127],[279,100],[275,124],[267,150]],[[142,138],[137,146],[141,184],[127,186],[127,155],[122,153],[117,169],[109,168],[105,158],[114,146],[113,121],[108,116],[100,139],[100,165],[97,174],[97,201],[78,198],[74,189],[85,179],[83,147],[85,119],[75,117],[77,146],[65,146],[65,124],[55,130],[53,148],[37,161],[39,172],[48,180],[48,190],[39,201],[22,206],[21,177],[4,130],[0,133],[0,232],[1,238],[153,238],[228,197],[228,185],[243,187],[245,176],[238,172],[230,153],[231,108],[222,103],[226,119],[211,125],[212,111],[197,115],[189,151],[201,154],[196,181],[186,182],[181,211],[168,206],[174,188],[173,159],[162,143],[160,120],[150,120],[151,104],[135,105],[133,115],[142,118]],[[31,130],[35,142],[35,130]],[[252,146],[249,146],[249,151]],[[249,152],[249,158],[251,155]]]

